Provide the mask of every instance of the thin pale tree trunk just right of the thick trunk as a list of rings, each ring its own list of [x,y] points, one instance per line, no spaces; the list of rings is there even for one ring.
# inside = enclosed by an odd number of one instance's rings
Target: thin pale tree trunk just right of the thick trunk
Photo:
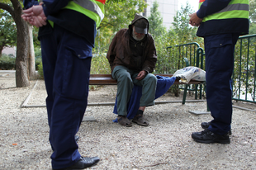
[[[28,65],[29,65],[29,76],[30,78],[36,77],[36,64],[35,64],[35,51],[33,42],[33,26],[28,24],[29,32],[29,50],[28,50]]]

